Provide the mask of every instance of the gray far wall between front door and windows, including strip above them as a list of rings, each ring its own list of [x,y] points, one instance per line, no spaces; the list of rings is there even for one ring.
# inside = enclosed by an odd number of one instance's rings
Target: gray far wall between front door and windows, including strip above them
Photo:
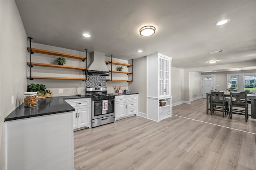
[[[227,88],[227,74],[235,73],[255,73],[256,70],[240,70],[240,71],[223,71],[223,72],[211,72],[211,73],[201,73],[201,75],[215,74],[216,76],[216,87],[218,90],[225,90]],[[220,85],[220,86],[218,86]]]

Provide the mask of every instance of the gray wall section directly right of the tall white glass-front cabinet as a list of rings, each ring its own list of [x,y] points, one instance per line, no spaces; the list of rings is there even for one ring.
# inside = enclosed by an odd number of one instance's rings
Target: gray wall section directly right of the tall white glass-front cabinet
[[[184,69],[172,67],[172,104],[184,100]]]

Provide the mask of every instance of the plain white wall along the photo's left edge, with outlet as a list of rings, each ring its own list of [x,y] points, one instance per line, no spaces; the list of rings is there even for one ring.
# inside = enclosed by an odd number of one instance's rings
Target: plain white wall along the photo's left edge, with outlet
[[[0,0],[0,170],[4,168],[4,118],[23,102],[27,87],[27,36],[14,0]],[[11,96],[14,95],[14,105]]]

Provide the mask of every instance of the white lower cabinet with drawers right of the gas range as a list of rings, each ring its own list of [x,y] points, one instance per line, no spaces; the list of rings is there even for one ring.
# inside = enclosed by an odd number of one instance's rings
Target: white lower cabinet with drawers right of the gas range
[[[115,97],[115,121],[121,117],[138,115],[138,94]]]

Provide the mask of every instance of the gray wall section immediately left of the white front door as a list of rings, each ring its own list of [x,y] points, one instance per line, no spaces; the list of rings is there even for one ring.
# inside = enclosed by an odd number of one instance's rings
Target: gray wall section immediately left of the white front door
[[[201,73],[190,72],[189,73],[189,96],[190,100],[202,96],[201,88]]]

